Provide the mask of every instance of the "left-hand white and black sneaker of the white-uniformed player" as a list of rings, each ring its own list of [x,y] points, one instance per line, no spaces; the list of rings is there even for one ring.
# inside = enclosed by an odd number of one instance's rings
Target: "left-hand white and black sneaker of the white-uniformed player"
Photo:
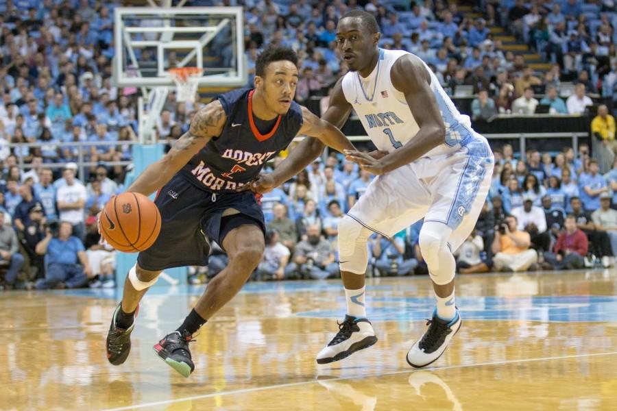
[[[345,321],[339,323],[339,332],[335,338],[317,354],[317,364],[342,360],[376,342],[377,337],[370,321],[346,315]]]

